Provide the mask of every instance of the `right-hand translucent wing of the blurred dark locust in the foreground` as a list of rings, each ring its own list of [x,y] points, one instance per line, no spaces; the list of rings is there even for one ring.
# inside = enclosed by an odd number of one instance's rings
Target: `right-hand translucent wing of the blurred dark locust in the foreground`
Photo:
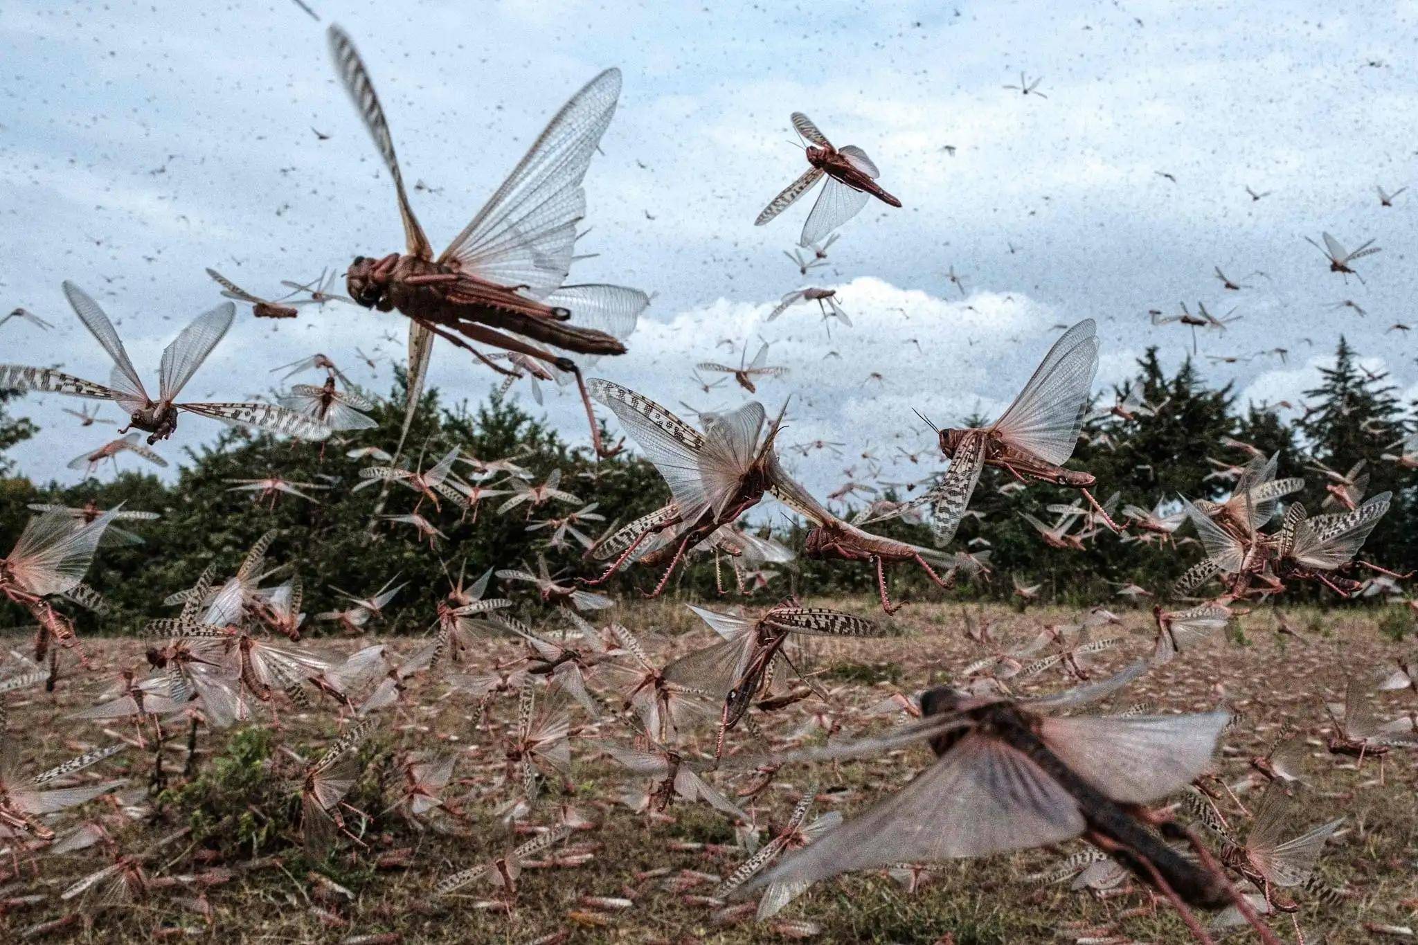
[[[1228,713],[1068,715],[1039,735],[1064,764],[1115,800],[1151,803],[1184,788],[1211,761]]]

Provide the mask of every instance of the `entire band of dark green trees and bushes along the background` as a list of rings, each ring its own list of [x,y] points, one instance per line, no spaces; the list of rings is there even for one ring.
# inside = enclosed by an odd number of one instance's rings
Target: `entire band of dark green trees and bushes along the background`
[[[1252,404],[1238,415],[1229,387],[1208,388],[1190,360],[1168,375],[1157,350],[1149,349],[1137,363],[1136,377],[1100,397],[1099,407],[1106,408],[1115,397],[1122,400],[1130,390],[1136,390],[1147,404],[1164,407],[1156,415],[1146,411],[1130,418],[1103,414],[1089,421],[1069,466],[1086,469],[1098,477],[1093,492],[1099,500],[1120,493],[1116,513],[1120,519],[1126,504],[1151,509],[1159,500],[1176,503],[1178,496],[1215,499],[1227,494],[1231,489],[1227,469],[1244,465],[1249,456],[1224,445],[1225,438],[1252,443],[1265,455],[1278,452],[1279,475],[1306,477],[1302,499],[1312,513],[1320,510],[1326,497],[1326,479],[1307,466],[1319,460],[1347,472],[1366,459],[1371,476],[1368,494],[1394,492],[1392,509],[1370,538],[1367,554],[1397,570],[1418,567],[1418,545],[1407,540],[1418,528],[1418,502],[1411,485],[1414,473],[1380,458],[1384,452],[1394,452],[1395,441],[1411,428],[1411,421],[1385,375],[1364,371],[1343,340],[1334,367],[1322,373],[1323,383],[1306,394],[1306,412],[1292,425],[1280,414]],[[298,572],[306,588],[306,612],[340,606],[333,588],[363,595],[401,575],[401,579],[410,581],[408,587],[390,609],[390,619],[372,629],[423,632],[432,621],[435,602],[448,589],[444,562],[452,575],[465,567],[469,581],[489,567],[527,562],[535,568],[536,554],[543,548],[549,530],[529,533],[527,524],[566,514],[573,507],[543,507],[535,511],[532,520],[523,510],[499,516],[493,510],[503,497],[498,496],[485,502],[474,521],[471,517],[459,520],[448,507],[435,511],[425,502],[418,511],[448,536],[437,554],[431,554],[410,526],[374,519],[376,511],[413,511],[417,496],[398,486],[389,489],[383,499],[379,486],[354,492],[353,487],[364,482],[359,479],[360,468],[374,463],[346,456],[353,446],[379,446],[393,452],[403,421],[401,402],[403,388],[396,387],[390,402],[376,409],[379,429],[332,441],[323,456],[318,446],[252,436],[240,429],[227,431],[214,446],[190,453],[172,486],[138,473],[123,473],[108,483],[50,485],[43,489],[24,479],[3,479],[0,528],[7,536],[17,534],[30,514],[24,509],[30,502],[81,504],[92,499],[102,507],[126,502],[132,509],[162,511],[160,521],[133,527],[146,537],[146,544],[106,545],[89,574],[89,582],[102,588],[118,605],[113,616],[104,623],[109,630],[132,632],[143,621],[160,615],[163,611],[157,599],[189,587],[211,561],[217,561],[224,572],[231,572],[262,533],[277,528],[279,537],[268,560],[282,571],[271,577],[282,579]],[[988,418],[971,418],[968,422],[984,424]],[[28,436],[31,429],[27,421],[7,421],[0,414],[0,468],[4,463],[3,446]],[[532,470],[536,482],[542,482],[552,469],[560,469],[563,489],[584,502],[600,503],[598,511],[620,524],[668,500],[668,489],[645,460],[621,455],[594,462],[587,448],[569,446],[542,421],[495,395],[476,407],[459,404],[454,409],[440,408],[435,392],[424,395],[423,409],[408,438],[406,465],[431,465],[451,446],[486,460],[512,458]],[[458,469],[471,473],[468,466],[459,465]],[[330,489],[315,493],[319,504],[282,496],[275,509],[268,510],[265,504],[252,503],[250,493],[228,492],[231,483],[225,482],[275,473],[294,482],[325,483]],[[1008,490],[1001,494],[1001,487]],[[1073,490],[1039,483],[1024,490],[1010,489],[1007,475],[987,469],[970,506],[971,513],[980,513],[983,519],[971,514],[964,520],[954,548],[988,550],[994,575],[961,584],[951,596],[1008,598],[1014,592],[1011,578],[1018,578],[1021,584],[1042,584],[1045,599],[1071,605],[1115,599],[1117,587],[1127,582],[1160,595],[1197,560],[1194,544],[1177,548],[1124,543],[1107,533],[1090,540],[1082,553],[1055,550],[1045,545],[1020,517],[1020,513],[1028,511],[1052,521],[1054,514],[1045,510],[1048,504],[1066,504],[1076,499]],[[766,519],[764,510],[771,510],[771,503],[764,502],[754,510],[757,521]],[[778,528],[781,521],[783,517],[773,511],[773,526]],[[930,545],[929,530],[923,526],[896,520],[873,528]],[[593,523],[583,530],[594,536],[601,528]],[[784,538],[790,545],[801,547],[803,534],[800,526],[790,526]],[[546,554],[549,567],[567,577],[591,575],[598,570],[581,560],[577,545]],[[784,594],[875,596],[875,574],[862,564],[800,560],[778,570],[783,577],[760,595],[764,599]],[[655,577],[634,570],[618,577],[608,591],[613,595],[634,594],[635,588],[648,588]],[[932,601],[944,596],[910,564],[889,567],[888,578],[893,596]],[[723,579],[733,584],[727,568]],[[713,568],[698,565],[682,570],[669,589],[716,596]],[[496,587],[495,592],[526,599],[527,588]],[[1317,594],[1313,588],[1297,587],[1289,596],[1317,599]],[[23,618],[11,611],[9,618],[0,619],[18,623]],[[79,615],[81,632],[95,626],[95,618]],[[308,626],[313,632],[322,629],[322,625]]]

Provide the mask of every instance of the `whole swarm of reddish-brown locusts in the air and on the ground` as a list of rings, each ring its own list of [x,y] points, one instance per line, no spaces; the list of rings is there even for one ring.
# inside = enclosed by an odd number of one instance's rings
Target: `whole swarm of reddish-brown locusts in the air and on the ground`
[[[596,451],[613,452],[600,438],[593,405],[598,402],[659,470],[668,494],[658,510],[628,524],[613,523],[591,537],[601,528],[591,523],[605,521],[607,510],[597,511],[594,496],[588,500],[564,489],[560,473],[537,483],[510,459],[485,462],[457,448],[435,462],[410,465],[403,436],[396,455],[354,449],[350,456],[372,463],[362,470],[357,487],[381,486],[396,499],[408,499],[413,507],[407,513],[384,517],[411,526],[417,534],[408,537],[427,541],[428,554],[435,554],[442,537],[440,516],[475,516],[484,500],[496,497],[495,509],[485,514],[525,514],[530,520],[537,513],[542,517],[529,530],[543,531],[550,548],[570,543],[583,548],[588,572],[552,572],[539,560],[536,565],[506,561],[472,582],[462,571],[457,578],[450,574],[445,599],[437,613],[427,615],[427,640],[410,652],[376,643],[333,655],[303,639],[311,623],[347,636],[376,629],[403,584],[396,575],[374,592],[340,591],[345,609],[308,621],[301,578],[275,582],[272,575],[284,568],[268,567],[268,551],[279,540],[271,533],[251,548],[235,574],[211,567],[190,588],[167,588],[170,609],[147,623],[143,659],[111,677],[88,669],[84,640],[68,612],[71,606],[102,612],[101,589],[84,584],[89,564],[102,554],[105,538],[136,540],[119,523],[142,521],[153,513],[37,506],[38,514],[0,558],[0,594],[20,605],[34,628],[33,647],[6,663],[0,700],[43,686],[52,690],[61,681],[60,667],[77,664],[64,683],[94,684],[95,698],[75,714],[74,724],[92,725],[75,731],[85,731],[85,741],[95,747],[35,771],[17,755],[13,740],[0,742],[0,832],[11,863],[3,887],[9,898],[0,901],[0,910],[38,902],[60,910],[60,918],[35,924],[27,934],[102,924],[115,910],[157,897],[177,897],[197,915],[206,908],[210,922],[203,890],[225,881],[220,871],[230,873],[234,864],[203,866],[210,860],[174,857],[186,839],[183,830],[139,849],[123,827],[152,816],[162,791],[201,768],[204,744],[237,725],[269,727],[282,740],[271,776],[285,779],[289,823],[275,826],[298,834],[312,863],[339,856],[379,868],[407,864],[418,856],[417,849],[387,849],[387,834],[370,829],[393,810],[418,829],[435,826],[445,833],[471,833],[475,815],[506,825],[505,839],[493,842],[491,853],[442,864],[441,881],[427,890],[437,908],[454,915],[476,910],[479,922],[496,922],[499,912],[516,907],[525,870],[570,868],[593,857],[600,819],[668,819],[693,805],[705,805],[709,816],[733,827],[740,837],[735,861],[708,878],[665,870],[648,874],[647,881],[672,885],[716,924],[761,921],[784,936],[815,934],[811,890],[838,874],[885,871],[913,891],[949,860],[1071,840],[1088,846],[1056,870],[1032,877],[1035,881],[1075,880],[1078,888],[1099,895],[1133,883],[1150,901],[1176,910],[1200,942],[1248,924],[1261,941],[1275,944],[1280,939],[1272,924],[1280,917],[1289,925],[1280,925],[1286,935],[1303,938],[1302,907],[1319,910],[1343,898],[1316,878],[1324,844],[1343,829],[1343,817],[1309,830],[1296,826],[1296,799],[1306,792],[1297,732],[1275,740],[1265,755],[1252,759],[1254,772],[1246,779],[1228,783],[1218,775],[1218,744],[1246,723],[1224,698],[1212,711],[1190,714],[1149,704],[1102,714],[1096,704],[1126,698],[1129,687],[1154,667],[1187,660],[1188,650],[1221,638],[1235,615],[1297,584],[1350,596],[1374,575],[1390,582],[1405,579],[1408,575],[1361,557],[1366,538],[1388,510],[1388,493],[1366,499],[1358,470],[1349,476],[1330,470],[1340,483],[1330,489],[1336,502],[1312,514],[1299,503],[1286,503],[1303,480],[1278,477],[1276,459],[1256,456],[1239,470],[1225,500],[1180,496],[1177,511],[1166,511],[1164,504],[1153,511],[1129,506],[1123,521],[1115,520],[1116,497],[1099,502],[1095,476],[1068,466],[1089,415],[1098,370],[1099,340],[1089,319],[1069,327],[1044,353],[1035,373],[1021,378],[1018,395],[991,424],[937,431],[940,459],[949,460],[949,468],[936,485],[909,502],[873,503],[851,521],[841,519],[780,462],[786,408],[773,414],[749,401],[732,411],[698,414],[691,424],[645,394],[583,377],[577,358],[624,353],[649,302],[637,289],[569,282],[579,258],[576,241],[584,232],[581,184],[615,111],[617,69],[594,77],[556,112],[510,176],[435,256],[414,217],[370,72],[349,35],[330,27],[328,37],[336,74],[393,180],[404,247],[387,255],[354,256],[346,273],[347,296],[335,295],[332,281],[322,275],[306,285],[286,283],[292,295],[308,298],[265,300],[208,269],[223,295],[252,305],[252,317],[313,317],[305,306],[323,309],[326,303],[397,312],[408,323],[404,435],[438,344],[461,349],[509,383],[530,375],[533,383],[574,385]],[[801,235],[801,247],[820,261],[835,239],[830,235],[872,197],[889,207],[900,207],[900,201],[876,183],[879,170],[861,147],[834,146],[800,112],[791,123],[807,142],[808,169],[773,198],[756,224],[767,224],[822,183]],[[1327,234],[1326,244],[1332,268],[1341,273],[1353,272],[1346,261],[1373,252],[1361,247],[1344,254]],[[804,275],[817,265],[797,254],[790,258]],[[824,292],[790,295],[821,305],[831,295]],[[138,434],[129,434],[78,458],[78,465],[92,468],[125,451],[163,462],[149,446],[170,436],[183,414],[316,441],[322,449],[335,432],[374,424],[364,412],[372,402],[350,388],[325,354],[285,366],[294,368],[286,377],[323,370],[325,380],[319,387],[295,385],[281,404],[179,400],[237,317],[231,300],[199,316],[163,350],[153,397],[98,303],[69,282],[64,293],[112,363],[108,383],[6,364],[0,366],[0,384],[115,401],[125,418],[119,432],[132,428],[147,434],[146,446]],[[786,299],[769,319],[787,305]],[[831,305],[849,327],[837,302]],[[737,368],[718,363],[699,367],[733,374],[754,394],[754,381],[786,373],[766,360],[763,346]],[[608,368],[611,361],[605,364]],[[1164,407],[1127,401],[1112,409]],[[88,414],[82,417],[92,422]],[[1083,537],[1106,531],[1170,541],[1190,526],[1202,557],[1171,588],[1176,604],[1154,608],[1151,643],[1110,673],[1099,674],[1096,655],[1123,650],[1129,640],[1100,629],[1116,622],[1106,611],[1089,612],[1076,625],[1046,628],[1021,645],[995,640],[988,626],[980,626],[970,638],[980,659],[959,667],[950,683],[896,693],[878,708],[876,714],[903,715],[903,724],[864,731],[861,723],[871,718],[858,718],[851,720],[851,730],[859,737],[839,737],[845,721],[837,708],[841,693],[830,690],[814,669],[815,653],[824,640],[871,647],[879,638],[906,632],[893,618],[905,602],[892,599],[891,567],[922,570],[940,592],[957,582],[988,579],[988,553],[950,548],[987,466],[1014,487],[1042,483],[1076,490],[1075,504],[1049,506],[1061,514],[1056,524],[1031,519],[1055,547],[1082,548]],[[496,476],[503,479],[493,482]],[[288,482],[279,470],[265,479],[231,482],[238,483],[237,490],[252,492],[257,502],[275,503],[282,493],[294,497],[286,502],[315,502],[302,492],[306,489],[320,490],[320,502],[336,497],[328,483]],[[800,550],[744,530],[744,517],[766,502],[781,503],[810,524]],[[929,523],[933,545],[872,531],[875,523],[895,517]],[[1072,531],[1079,521],[1082,528]],[[617,572],[640,568],[651,575],[649,595],[655,596],[676,570],[705,554],[713,555],[726,598],[761,587],[771,575],[766,565],[795,554],[868,568],[882,615],[872,619],[807,606],[794,598],[770,606],[691,606],[702,630],[688,638],[688,645],[665,645],[621,623],[613,609],[617,601],[591,589]],[[727,587],[720,574],[723,560],[733,577]],[[498,595],[489,595],[493,579]],[[1018,584],[1017,589],[1024,598],[1037,594],[1037,588]],[[1163,588],[1127,589],[1133,595],[1154,591],[1166,594]],[[519,599],[552,605],[557,616],[529,623],[518,615]],[[493,645],[502,647],[499,652],[510,647],[516,656],[481,663]],[[1025,691],[1025,680],[1046,670],[1061,672],[1068,686]],[[1418,748],[1418,725],[1411,714],[1383,723],[1370,706],[1371,696],[1378,689],[1418,691],[1418,683],[1405,662],[1374,677],[1366,676],[1368,667],[1346,670],[1346,703],[1329,708],[1333,730],[1323,748],[1357,771],[1377,766],[1384,778],[1385,764]],[[467,728],[430,737],[428,751],[400,754],[394,759],[397,778],[383,781],[389,809],[360,808],[352,792],[364,776],[366,749],[396,725],[417,730],[418,724],[408,723],[424,708],[417,694],[431,690],[442,693],[445,706],[457,707],[468,720]],[[798,704],[815,707],[810,728],[825,732],[825,744],[804,745],[803,732],[787,741],[769,734],[776,714]],[[328,741],[285,744],[282,717],[292,713],[328,720]],[[788,778],[794,765],[831,762],[831,768],[811,769],[820,779],[844,759],[883,758],[915,745],[929,748],[933,759],[909,783],[879,789],[851,816],[814,813],[814,806],[831,796],[832,785],[818,781],[803,791],[810,783],[804,781],[794,788],[798,802],[784,823],[760,820],[760,795],[774,779]],[[104,774],[105,762],[119,752],[129,758],[143,752],[142,765],[130,771],[149,769],[146,786]],[[617,808],[600,803],[610,798],[576,796],[573,766],[579,757],[603,759],[623,774],[625,789],[614,799]],[[468,785],[474,788],[467,791]],[[1248,791],[1261,799],[1242,802]],[[597,802],[594,817],[586,813],[590,802]],[[1309,806],[1323,805],[1312,799]],[[1236,823],[1242,819],[1238,809],[1249,812],[1248,823]],[[62,890],[38,883],[48,859],[82,850],[101,857],[91,874]],[[179,863],[180,871],[174,870]],[[337,887],[329,878],[316,883],[326,884],[326,898],[332,895],[328,885]],[[333,895],[339,894],[336,888]],[[805,898],[794,908],[801,918],[780,915],[800,897]],[[610,927],[614,912],[631,905],[628,895],[584,895],[573,915],[584,927]],[[323,907],[312,902],[311,908]],[[543,941],[566,941],[567,935],[552,929]]]

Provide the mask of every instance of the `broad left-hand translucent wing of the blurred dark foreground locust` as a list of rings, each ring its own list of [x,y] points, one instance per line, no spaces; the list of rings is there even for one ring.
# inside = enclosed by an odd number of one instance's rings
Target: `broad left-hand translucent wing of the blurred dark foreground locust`
[[[930,863],[1059,843],[1083,826],[1073,798],[1029,758],[970,734],[902,791],[747,888],[811,884],[902,860]]]

